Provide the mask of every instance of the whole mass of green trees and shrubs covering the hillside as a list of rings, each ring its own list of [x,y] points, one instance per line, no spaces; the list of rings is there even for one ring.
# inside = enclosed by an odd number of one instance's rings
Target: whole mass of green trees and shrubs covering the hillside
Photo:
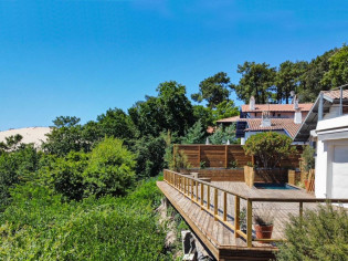
[[[7,137],[0,143],[0,260],[171,260],[154,177],[176,165],[172,144],[204,143],[208,126],[239,115],[231,92],[244,102],[253,95],[257,103],[288,103],[291,91],[314,101],[348,82],[347,53],[344,45],[278,67],[245,62],[239,84],[218,72],[192,95],[207,105],[193,105],[184,85],[164,82],[127,112],[109,108],[86,124],[56,117],[40,149],[20,135]],[[236,143],[233,134],[233,125],[219,126],[209,139]]]

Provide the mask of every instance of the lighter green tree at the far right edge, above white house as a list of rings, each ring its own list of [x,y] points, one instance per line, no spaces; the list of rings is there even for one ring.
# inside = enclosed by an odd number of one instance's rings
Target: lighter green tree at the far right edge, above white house
[[[340,48],[328,61],[329,70],[325,72],[320,83],[330,87],[348,84],[348,46]]]

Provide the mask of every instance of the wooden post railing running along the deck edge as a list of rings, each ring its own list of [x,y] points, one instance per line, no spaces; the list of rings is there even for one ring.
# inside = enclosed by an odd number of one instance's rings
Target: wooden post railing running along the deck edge
[[[260,242],[275,242],[284,241],[284,239],[253,239],[252,221],[253,221],[253,203],[254,202],[296,202],[298,203],[298,215],[303,216],[305,202],[326,202],[328,199],[317,198],[259,198],[249,197],[234,191],[229,191],[213,184],[202,181],[189,175],[182,175],[172,170],[164,170],[164,180],[178,191],[188,197],[192,202],[200,206],[201,210],[211,213],[215,221],[221,221],[224,226],[234,231],[235,238],[243,238],[246,246],[252,248],[253,241]],[[207,189],[207,194],[204,190]],[[213,202],[211,202],[211,192],[213,194]],[[220,195],[219,195],[220,192]],[[234,197],[234,222],[228,220],[228,195]],[[219,209],[219,197],[222,197],[222,208]],[[241,230],[241,199],[246,200],[246,232]],[[347,203],[348,199],[330,199],[330,202]],[[204,203],[205,202],[205,203]],[[213,203],[213,206],[211,206]],[[219,215],[222,212],[222,215]]]

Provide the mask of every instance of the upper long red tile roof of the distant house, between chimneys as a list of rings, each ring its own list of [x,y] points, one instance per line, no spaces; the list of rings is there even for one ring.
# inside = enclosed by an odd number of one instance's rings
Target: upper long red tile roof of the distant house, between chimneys
[[[309,112],[313,103],[299,103],[298,107],[302,112]],[[250,109],[249,104],[241,106],[243,113],[270,112],[295,112],[294,104],[255,104],[255,109]]]

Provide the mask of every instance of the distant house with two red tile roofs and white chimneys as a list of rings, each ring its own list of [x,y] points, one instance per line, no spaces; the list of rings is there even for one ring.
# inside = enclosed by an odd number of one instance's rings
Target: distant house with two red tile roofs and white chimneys
[[[255,98],[251,97],[250,104],[241,106],[240,116],[223,118],[217,123],[222,125],[235,123],[235,136],[241,138],[241,144],[251,135],[267,130],[294,138],[312,105],[298,103],[296,96],[293,104],[255,104]]]

